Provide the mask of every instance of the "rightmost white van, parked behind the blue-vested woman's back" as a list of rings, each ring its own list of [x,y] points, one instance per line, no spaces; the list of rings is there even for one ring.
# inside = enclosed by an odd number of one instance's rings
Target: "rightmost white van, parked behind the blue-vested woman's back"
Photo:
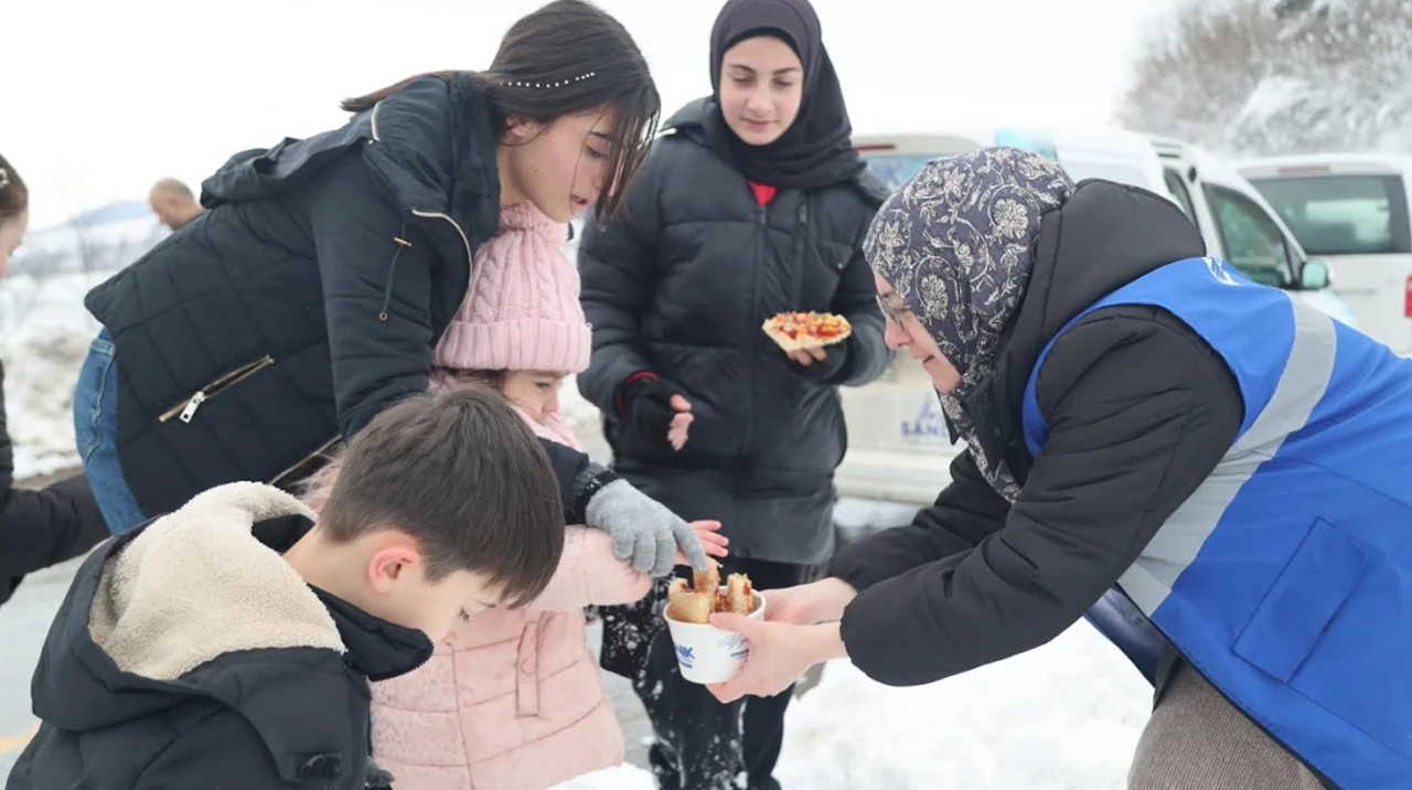
[[[1312,254],[1358,328],[1412,356],[1412,155],[1305,154],[1237,163]]]

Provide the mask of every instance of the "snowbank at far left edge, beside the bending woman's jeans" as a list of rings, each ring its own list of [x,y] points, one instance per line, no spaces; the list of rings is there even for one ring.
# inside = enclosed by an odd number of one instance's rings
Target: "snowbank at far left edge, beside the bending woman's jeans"
[[[0,359],[17,479],[78,464],[73,384],[99,329],[83,295],[109,276],[14,276],[0,284]]]

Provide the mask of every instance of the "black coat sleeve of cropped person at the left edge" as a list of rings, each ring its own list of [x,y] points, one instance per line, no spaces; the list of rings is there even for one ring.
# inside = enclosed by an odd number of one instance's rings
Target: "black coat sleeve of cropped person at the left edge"
[[[106,537],[103,513],[82,475],[42,490],[14,488],[0,365],[0,603],[14,595],[25,574],[78,557]]]

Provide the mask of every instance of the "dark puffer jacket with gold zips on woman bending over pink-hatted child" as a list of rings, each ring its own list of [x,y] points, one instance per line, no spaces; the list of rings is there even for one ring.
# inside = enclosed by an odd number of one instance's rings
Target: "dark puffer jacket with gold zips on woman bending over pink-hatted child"
[[[210,211],[88,295],[117,349],[117,447],[144,512],[294,482],[426,389],[497,228],[497,123],[469,75],[425,78],[342,129],[236,154],[202,184]],[[587,459],[545,448],[576,510]]]

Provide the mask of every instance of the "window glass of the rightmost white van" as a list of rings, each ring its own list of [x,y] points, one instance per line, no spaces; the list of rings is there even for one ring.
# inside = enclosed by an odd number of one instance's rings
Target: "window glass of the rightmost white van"
[[[1396,175],[1261,178],[1251,184],[1315,256],[1412,253],[1408,199]]]

